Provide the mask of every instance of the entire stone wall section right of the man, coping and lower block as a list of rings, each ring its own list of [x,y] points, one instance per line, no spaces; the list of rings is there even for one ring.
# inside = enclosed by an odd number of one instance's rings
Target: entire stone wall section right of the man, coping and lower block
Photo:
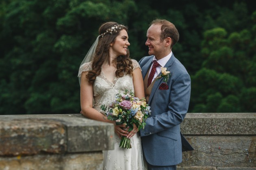
[[[194,151],[178,170],[256,169],[256,113],[188,113],[181,132]]]

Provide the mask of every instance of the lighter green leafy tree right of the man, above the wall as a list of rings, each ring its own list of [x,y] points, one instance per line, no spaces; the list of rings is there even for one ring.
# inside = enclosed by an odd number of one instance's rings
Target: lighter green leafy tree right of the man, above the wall
[[[192,76],[192,112],[255,112],[254,35],[254,27],[229,35],[224,28],[204,32],[205,60]]]

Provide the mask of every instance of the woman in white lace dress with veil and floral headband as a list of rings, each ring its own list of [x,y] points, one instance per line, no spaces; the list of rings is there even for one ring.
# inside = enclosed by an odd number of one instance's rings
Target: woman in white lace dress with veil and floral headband
[[[129,58],[127,27],[116,22],[103,23],[99,36],[80,65],[81,113],[98,121],[115,125],[115,148],[105,151],[104,170],[143,170],[141,139],[138,128],[128,132],[125,125],[116,125],[101,112],[100,106],[108,106],[115,94],[126,89],[135,97],[145,97],[139,63]],[[119,148],[121,136],[131,139],[132,148]]]

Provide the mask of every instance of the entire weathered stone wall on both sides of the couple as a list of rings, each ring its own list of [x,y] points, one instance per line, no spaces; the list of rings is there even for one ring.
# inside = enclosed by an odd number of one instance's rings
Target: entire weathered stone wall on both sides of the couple
[[[188,113],[178,170],[255,170],[256,113]],[[0,115],[0,170],[98,170],[114,127],[72,115]]]

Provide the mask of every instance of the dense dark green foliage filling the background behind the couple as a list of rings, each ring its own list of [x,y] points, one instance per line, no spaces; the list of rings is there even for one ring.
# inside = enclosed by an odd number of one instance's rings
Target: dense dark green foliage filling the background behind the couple
[[[0,115],[80,112],[78,68],[105,21],[129,27],[148,55],[148,24],[180,32],[175,56],[192,80],[189,112],[256,112],[256,3],[249,0],[1,0]]]

